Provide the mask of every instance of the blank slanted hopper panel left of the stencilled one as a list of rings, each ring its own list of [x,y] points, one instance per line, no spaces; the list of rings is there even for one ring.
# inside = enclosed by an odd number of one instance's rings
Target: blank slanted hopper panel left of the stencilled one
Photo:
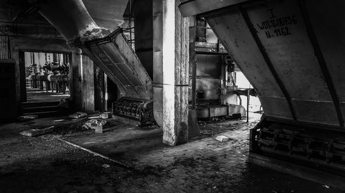
[[[217,15],[206,16],[206,19],[259,95],[265,96],[265,99],[275,99],[270,102],[264,100],[264,103],[272,106],[287,104],[286,98],[268,68],[241,12],[238,9],[227,10]],[[276,98],[281,100],[276,100]],[[285,107],[282,106],[282,109],[266,108],[265,113],[277,115],[279,112],[279,117],[292,119],[289,108]]]

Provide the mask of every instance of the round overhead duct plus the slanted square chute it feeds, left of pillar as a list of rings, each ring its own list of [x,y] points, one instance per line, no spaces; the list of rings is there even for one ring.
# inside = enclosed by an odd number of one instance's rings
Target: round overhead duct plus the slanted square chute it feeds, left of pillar
[[[121,97],[152,100],[152,80],[121,29],[110,33],[99,27],[81,0],[32,3],[68,43],[80,47],[117,84]]]

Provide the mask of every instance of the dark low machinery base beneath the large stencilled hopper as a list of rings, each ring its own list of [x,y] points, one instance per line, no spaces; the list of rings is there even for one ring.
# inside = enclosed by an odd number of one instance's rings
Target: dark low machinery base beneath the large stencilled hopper
[[[345,172],[345,133],[336,128],[264,118],[251,130],[250,141],[251,151],[260,155],[307,161],[304,164],[308,166]]]

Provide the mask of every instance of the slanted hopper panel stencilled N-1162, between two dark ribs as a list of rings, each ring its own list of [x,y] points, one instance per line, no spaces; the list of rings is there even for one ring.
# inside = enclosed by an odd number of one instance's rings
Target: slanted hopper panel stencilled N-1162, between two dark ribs
[[[297,120],[337,124],[337,112],[299,2],[264,3],[246,10],[279,78],[294,100]]]

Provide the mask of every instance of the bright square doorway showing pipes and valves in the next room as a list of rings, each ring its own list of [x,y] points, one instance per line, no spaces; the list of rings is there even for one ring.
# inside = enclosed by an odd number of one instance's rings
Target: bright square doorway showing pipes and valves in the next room
[[[22,102],[57,102],[70,98],[70,53],[21,51],[19,58]]]

